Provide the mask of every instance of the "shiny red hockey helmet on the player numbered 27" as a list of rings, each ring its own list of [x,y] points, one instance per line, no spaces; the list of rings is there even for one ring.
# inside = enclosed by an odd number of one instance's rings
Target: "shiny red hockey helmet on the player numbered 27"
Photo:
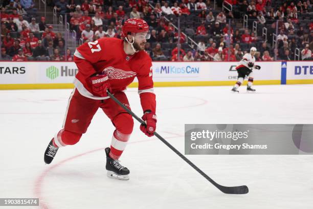
[[[145,20],[139,18],[127,19],[122,27],[122,33],[124,37],[126,37],[128,34],[143,32],[148,32],[146,39],[149,39],[150,38],[149,26],[147,22],[145,22]]]

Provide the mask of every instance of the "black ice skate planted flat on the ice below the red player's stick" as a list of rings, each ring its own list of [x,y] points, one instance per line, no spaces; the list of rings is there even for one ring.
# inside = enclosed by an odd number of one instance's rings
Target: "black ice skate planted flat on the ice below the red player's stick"
[[[107,170],[107,176],[109,178],[115,178],[119,180],[128,180],[129,179],[129,170],[122,166],[118,160],[114,160],[109,157],[110,148],[105,148],[106,154],[106,165],[105,169]]]

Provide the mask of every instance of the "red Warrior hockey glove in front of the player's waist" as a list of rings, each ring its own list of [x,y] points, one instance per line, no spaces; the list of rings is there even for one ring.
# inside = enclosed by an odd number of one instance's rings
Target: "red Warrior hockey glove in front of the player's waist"
[[[106,90],[111,91],[110,83],[106,74],[96,75],[89,78],[92,93],[95,96],[106,97]]]

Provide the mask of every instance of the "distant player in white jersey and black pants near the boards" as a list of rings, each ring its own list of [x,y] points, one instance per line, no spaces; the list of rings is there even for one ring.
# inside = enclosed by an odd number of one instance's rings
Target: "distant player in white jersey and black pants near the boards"
[[[238,88],[243,83],[244,77],[248,76],[248,85],[247,85],[247,91],[254,92],[255,89],[252,88],[253,84],[253,69],[260,70],[261,67],[254,64],[255,62],[255,55],[256,48],[252,47],[250,49],[250,53],[244,54],[242,59],[240,60],[238,66],[236,67],[236,70],[238,72],[238,80],[235,83],[235,86],[233,87],[233,92],[239,92]]]

